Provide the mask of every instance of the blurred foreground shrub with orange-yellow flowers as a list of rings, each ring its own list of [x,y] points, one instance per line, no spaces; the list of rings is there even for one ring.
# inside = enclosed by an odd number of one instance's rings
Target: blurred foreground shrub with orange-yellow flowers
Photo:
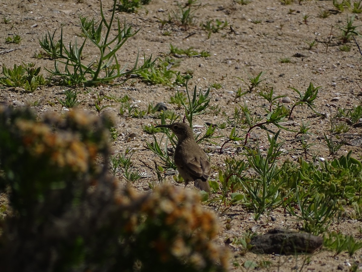
[[[216,217],[197,194],[117,187],[110,125],[0,105],[1,271],[226,271]]]

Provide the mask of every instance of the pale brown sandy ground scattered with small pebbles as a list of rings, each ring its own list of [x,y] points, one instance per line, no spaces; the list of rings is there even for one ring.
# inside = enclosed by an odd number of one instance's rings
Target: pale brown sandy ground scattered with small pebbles
[[[180,1],[184,5],[185,1]],[[109,18],[112,1],[102,1],[105,15]],[[130,38],[126,44],[119,50],[118,57],[122,65],[129,63],[131,66],[140,52],[146,57],[151,54],[153,58],[164,57],[169,53],[169,44],[181,49],[187,49],[191,46],[195,50],[209,51],[211,56],[207,58],[180,58],[180,66],[175,68],[182,73],[186,70],[193,71],[193,79],[190,81],[190,87],[195,84],[199,88],[206,90],[213,83],[220,83],[221,88],[211,88],[211,106],[219,105],[227,115],[232,115],[234,108],[238,104],[246,104],[252,111],[258,114],[264,114],[260,107],[265,103],[258,96],[257,92],[251,92],[242,98],[236,98],[236,91],[239,87],[246,90],[247,85],[240,80],[247,81],[248,75],[256,76],[263,71],[265,74],[262,82],[262,88],[274,88],[275,95],[288,95],[291,101],[295,101],[296,93],[288,88],[294,87],[305,92],[309,83],[314,86],[321,86],[319,96],[316,100],[316,110],[322,114],[335,113],[336,108],[352,108],[361,104],[361,55],[357,46],[349,42],[351,50],[344,52],[340,50],[340,29],[338,26],[346,24],[347,16],[351,16],[348,10],[342,13],[331,14],[327,18],[321,18],[319,15],[325,10],[335,10],[333,1],[298,1],[290,5],[283,5],[277,0],[254,0],[247,5],[241,5],[231,0],[226,1],[202,1],[202,7],[195,11],[194,25],[184,29],[177,24],[161,25],[161,20],[167,20],[169,14],[177,12],[178,8],[175,1],[171,0],[152,0],[149,5],[138,10],[137,13],[118,13],[117,16],[126,23],[132,25],[133,29],[140,29],[139,32]],[[9,18],[8,24],[0,24],[0,66],[13,67],[14,64],[20,65],[22,62],[34,62],[36,67],[46,67],[52,69],[54,61],[50,59],[33,58],[34,54],[42,51],[38,39],[41,39],[49,31],[53,33],[57,29],[56,35],[60,35],[60,28],[63,26],[64,40],[68,42],[75,41],[75,36],[80,36],[79,15],[89,18],[100,18],[99,2],[95,0],[88,1],[54,1],[54,0],[28,0],[28,1],[0,1],[0,17]],[[333,11],[331,13],[334,13]],[[307,17],[305,21],[304,18]],[[221,30],[219,33],[211,34],[203,31],[199,25],[211,19],[227,20],[232,26],[234,32],[229,27]],[[355,16],[354,25],[361,24],[362,17]],[[357,29],[358,30],[358,29]],[[168,32],[169,35],[164,35]],[[20,44],[6,44],[5,38],[18,34],[22,41]],[[362,39],[356,37],[362,44]],[[307,43],[316,41],[310,48]],[[16,49],[9,51],[10,49]],[[9,52],[8,52],[8,51]],[[91,46],[87,47],[89,55],[85,58],[91,59],[95,54]],[[304,57],[293,57],[296,53]],[[290,63],[281,63],[280,59],[289,58]],[[143,60],[140,58],[140,62]],[[41,73],[47,75],[42,69]],[[39,115],[42,112],[62,113],[67,109],[63,108],[56,98],[63,98],[62,86],[40,87],[33,93],[14,90],[12,88],[1,87],[0,100],[8,104],[20,106],[23,104],[34,107]],[[170,110],[175,111],[182,117],[184,110],[177,108],[169,103],[171,96],[174,96],[176,89],[162,85],[147,85],[139,79],[126,82],[121,86],[98,86],[91,88],[79,88],[81,94],[79,99],[84,100],[80,107],[94,112],[94,98],[96,91],[103,91],[106,95],[121,97],[129,95],[139,109],[146,110],[150,102],[155,105],[158,102],[164,102]],[[182,90],[182,88],[180,88]],[[337,98],[336,98],[337,97]],[[334,99],[335,98],[335,99]],[[139,100],[139,101],[138,101]],[[286,103],[286,107],[291,107],[291,103]],[[37,106],[33,106],[37,103]],[[135,154],[132,159],[134,166],[142,172],[147,172],[147,178],[143,178],[134,187],[139,190],[149,190],[148,182],[157,180],[154,170],[154,161],[161,164],[159,159],[146,147],[146,141],[153,141],[153,136],[143,132],[142,126],[155,124],[156,121],[151,116],[142,119],[126,118],[119,115],[119,103],[107,101],[113,107],[108,107],[104,112],[113,115],[116,129],[119,137],[113,142],[114,152],[125,152],[131,148]],[[334,104],[334,107],[327,105]],[[330,110],[332,112],[330,112]],[[226,116],[215,115],[212,112],[198,116],[194,124],[204,125],[205,122],[223,123]],[[312,155],[324,158],[333,158],[329,156],[327,144],[323,139],[323,132],[327,132],[331,127],[329,118],[322,118],[313,114],[306,107],[299,106],[294,110],[294,121],[297,124],[310,122],[310,132],[315,133],[308,139],[308,143],[315,143],[308,152],[307,159],[312,160]],[[275,129],[275,128],[274,128]],[[197,131],[205,131],[205,128],[197,128]],[[231,127],[219,129],[216,135],[228,136]],[[268,146],[266,132],[261,129],[254,131],[258,137],[261,146]],[[126,135],[132,135],[132,139]],[[342,139],[348,143],[361,137],[362,129],[353,128],[347,132],[349,135],[342,136]],[[160,133],[161,134],[161,133]],[[352,137],[351,137],[352,135]],[[157,135],[161,137],[162,135]],[[300,156],[300,144],[291,141],[295,133],[282,131],[280,138],[286,140],[284,149],[289,151],[288,156],[295,159]],[[216,143],[221,145],[225,138],[216,139]],[[205,148],[213,148],[213,145],[203,145]],[[361,156],[361,147],[354,145],[343,145],[338,156],[353,150],[355,157]],[[226,156],[236,156],[242,158],[237,153],[235,143],[226,145],[223,154],[214,151],[209,153],[212,165],[215,168],[223,167],[223,160]],[[337,156],[337,157],[338,157]],[[212,173],[215,178],[216,171]],[[126,183],[122,176],[119,176],[122,184]],[[173,182],[172,177],[169,181]],[[175,186],[182,186],[175,183]],[[274,227],[298,228],[300,222],[297,222],[290,215],[284,213],[283,209],[273,211],[272,215],[277,219],[271,221],[262,217],[255,222],[252,214],[243,209],[242,206],[232,207],[220,219],[223,231],[220,233],[220,244],[228,237],[238,237],[246,231],[258,226],[257,232],[264,233]],[[230,226],[226,229],[226,222],[232,219]],[[345,219],[341,224],[332,224],[329,230],[339,230],[344,234],[352,234],[356,239],[361,239],[362,222],[352,219]],[[362,251],[359,250],[353,257],[347,253],[341,253],[333,258],[334,252],[320,250],[312,255],[300,256],[277,256],[277,255],[255,255],[247,253],[240,255],[234,252],[231,263],[237,262],[240,267],[235,267],[236,271],[247,271],[243,264],[247,260],[256,262],[271,261],[271,267],[262,268],[263,271],[336,271],[344,269],[348,271],[349,264],[359,264],[362,269]],[[233,267],[233,266],[232,266]]]

